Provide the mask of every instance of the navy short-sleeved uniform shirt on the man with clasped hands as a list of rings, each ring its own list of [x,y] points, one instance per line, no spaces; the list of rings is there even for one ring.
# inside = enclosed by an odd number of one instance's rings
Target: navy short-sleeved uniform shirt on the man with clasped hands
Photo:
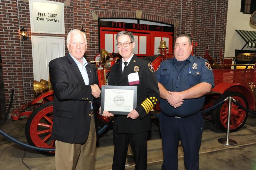
[[[201,57],[190,55],[180,71],[175,66],[176,58],[161,62],[156,71],[156,78],[168,91],[184,91],[198,83],[207,82],[214,87],[212,68],[209,62]],[[177,61],[177,60],[176,60]],[[167,100],[160,99],[160,108],[167,116],[188,117],[199,112],[204,106],[205,96],[185,99],[180,107],[172,107]]]

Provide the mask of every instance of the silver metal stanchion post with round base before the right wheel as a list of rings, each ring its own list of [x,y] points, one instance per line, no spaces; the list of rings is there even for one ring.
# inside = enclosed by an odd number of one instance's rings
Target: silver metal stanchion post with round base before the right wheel
[[[226,145],[226,146],[235,146],[237,145],[237,142],[229,139],[229,130],[230,130],[230,112],[231,112],[231,102],[233,97],[228,97],[229,103],[228,103],[228,125],[227,125],[227,136],[226,138],[220,138],[218,139],[219,143]]]

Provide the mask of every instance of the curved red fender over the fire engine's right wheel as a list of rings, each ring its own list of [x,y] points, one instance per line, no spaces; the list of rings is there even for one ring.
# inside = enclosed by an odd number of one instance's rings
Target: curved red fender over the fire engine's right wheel
[[[239,83],[220,83],[217,84],[214,88],[212,88],[212,91],[220,92],[223,94],[225,91],[235,91],[239,92],[244,95],[246,98],[249,109],[254,111],[255,108],[255,98],[252,94],[252,90],[245,86],[244,84]]]

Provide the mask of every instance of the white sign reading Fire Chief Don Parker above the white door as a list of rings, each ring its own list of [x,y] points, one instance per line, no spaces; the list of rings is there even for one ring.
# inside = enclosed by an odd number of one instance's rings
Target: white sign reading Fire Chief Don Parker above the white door
[[[29,12],[31,32],[65,34],[63,3],[29,0]]]

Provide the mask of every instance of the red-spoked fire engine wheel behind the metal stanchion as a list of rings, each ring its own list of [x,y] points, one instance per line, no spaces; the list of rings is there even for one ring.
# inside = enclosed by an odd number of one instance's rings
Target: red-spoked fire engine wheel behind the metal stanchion
[[[215,104],[220,103],[222,100],[227,97],[233,97],[245,108],[249,108],[248,102],[246,98],[238,92],[227,91],[223,93],[216,101]],[[212,113],[212,122],[214,126],[220,129],[223,132],[227,132],[227,124],[228,124],[228,102],[227,100],[223,105],[219,106]],[[248,116],[248,112],[244,111],[234,102],[231,103],[231,113],[230,113],[230,132],[236,132],[240,128],[243,127]]]

